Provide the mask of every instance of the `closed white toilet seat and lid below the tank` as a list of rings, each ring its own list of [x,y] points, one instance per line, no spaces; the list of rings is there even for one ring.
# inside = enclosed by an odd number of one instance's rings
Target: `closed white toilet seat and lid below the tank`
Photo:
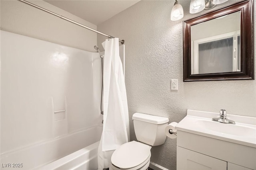
[[[138,170],[150,161],[151,147],[131,141],[121,145],[111,156],[113,169]]]

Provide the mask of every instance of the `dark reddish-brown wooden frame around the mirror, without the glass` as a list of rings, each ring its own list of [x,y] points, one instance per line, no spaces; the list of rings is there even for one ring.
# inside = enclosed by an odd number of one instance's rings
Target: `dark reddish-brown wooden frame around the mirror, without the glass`
[[[238,2],[219,10],[183,21],[183,81],[254,80],[254,14],[253,0]],[[220,16],[241,13],[241,71],[191,74],[191,26]]]

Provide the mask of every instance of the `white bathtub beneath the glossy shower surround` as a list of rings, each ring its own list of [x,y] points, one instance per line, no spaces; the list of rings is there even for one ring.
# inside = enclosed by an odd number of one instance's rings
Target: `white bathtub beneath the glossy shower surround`
[[[50,141],[3,153],[1,170],[97,170],[101,134],[102,126],[95,125]]]

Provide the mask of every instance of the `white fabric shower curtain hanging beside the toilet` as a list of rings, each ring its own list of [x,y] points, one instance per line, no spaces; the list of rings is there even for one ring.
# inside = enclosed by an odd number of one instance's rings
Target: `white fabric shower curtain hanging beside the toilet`
[[[112,153],[130,139],[129,117],[118,38],[102,43],[104,55],[103,132],[98,149],[98,170],[108,168]]]

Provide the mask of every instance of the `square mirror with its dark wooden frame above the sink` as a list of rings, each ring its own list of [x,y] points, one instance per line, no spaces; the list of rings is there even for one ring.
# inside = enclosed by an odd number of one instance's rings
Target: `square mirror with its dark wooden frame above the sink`
[[[252,1],[183,22],[184,81],[254,80]]]

